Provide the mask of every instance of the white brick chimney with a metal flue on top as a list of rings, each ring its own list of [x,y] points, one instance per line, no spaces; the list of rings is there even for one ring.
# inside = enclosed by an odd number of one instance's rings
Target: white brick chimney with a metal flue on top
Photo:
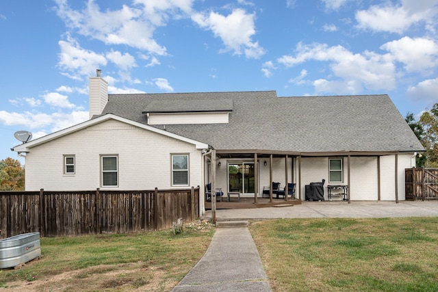
[[[96,77],[88,77],[90,81],[90,119],[94,115],[102,114],[108,101],[108,83],[102,78],[102,70],[96,70]]]

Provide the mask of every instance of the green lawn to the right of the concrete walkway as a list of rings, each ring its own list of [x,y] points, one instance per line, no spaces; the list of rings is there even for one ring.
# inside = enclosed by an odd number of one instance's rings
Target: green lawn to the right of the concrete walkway
[[[438,291],[438,217],[250,225],[273,291]]]

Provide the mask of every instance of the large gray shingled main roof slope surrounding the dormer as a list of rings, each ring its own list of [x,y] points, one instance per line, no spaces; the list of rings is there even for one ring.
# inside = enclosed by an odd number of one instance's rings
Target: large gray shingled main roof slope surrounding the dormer
[[[187,102],[190,107],[200,103],[201,107],[205,101],[231,101],[229,124],[166,125],[167,131],[207,143],[216,150],[424,150],[386,94],[277,97],[274,91],[260,91],[110,94],[108,97],[103,114],[112,113],[142,123],[146,123],[142,110],[155,108],[160,102]]]

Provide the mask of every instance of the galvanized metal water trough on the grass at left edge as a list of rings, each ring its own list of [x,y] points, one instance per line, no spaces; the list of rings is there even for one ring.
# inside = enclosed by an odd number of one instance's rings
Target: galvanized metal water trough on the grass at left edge
[[[40,233],[25,233],[0,240],[0,269],[15,267],[41,256]]]

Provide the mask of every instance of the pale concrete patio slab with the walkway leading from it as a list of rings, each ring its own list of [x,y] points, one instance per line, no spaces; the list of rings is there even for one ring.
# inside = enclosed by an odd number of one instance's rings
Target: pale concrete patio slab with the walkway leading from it
[[[302,202],[289,207],[218,210],[218,222],[275,218],[367,218],[438,216],[438,201]],[[211,211],[203,218],[210,219]],[[172,290],[271,291],[257,248],[247,227],[218,228],[194,268]]]

